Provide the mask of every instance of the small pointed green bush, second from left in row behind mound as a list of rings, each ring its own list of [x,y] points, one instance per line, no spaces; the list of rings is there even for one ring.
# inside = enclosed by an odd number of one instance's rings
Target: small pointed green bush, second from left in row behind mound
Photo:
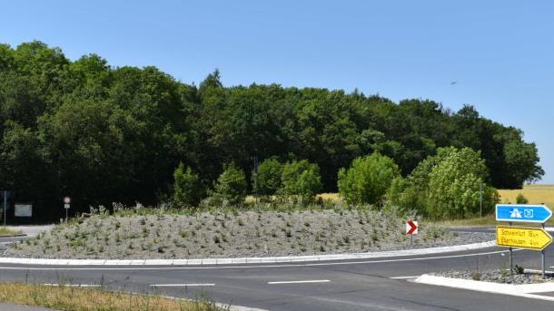
[[[246,197],[246,177],[233,163],[223,166],[223,173],[214,185],[213,195],[233,205],[242,204]]]

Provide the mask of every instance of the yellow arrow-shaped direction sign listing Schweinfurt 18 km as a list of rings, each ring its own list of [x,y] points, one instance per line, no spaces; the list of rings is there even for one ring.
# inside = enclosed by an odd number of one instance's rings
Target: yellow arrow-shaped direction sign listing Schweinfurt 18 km
[[[552,237],[542,228],[496,228],[496,244],[500,247],[542,250],[552,243]]]

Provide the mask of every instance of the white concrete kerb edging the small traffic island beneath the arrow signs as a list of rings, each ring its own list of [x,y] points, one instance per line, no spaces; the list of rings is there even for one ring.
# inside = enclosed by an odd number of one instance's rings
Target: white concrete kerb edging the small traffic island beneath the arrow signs
[[[427,285],[434,285],[440,287],[453,287],[460,289],[468,289],[480,292],[487,292],[493,294],[510,295],[510,296],[522,296],[533,299],[542,299],[554,301],[554,296],[540,296],[533,293],[547,293],[554,292],[554,283],[536,283],[536,284],[501,284],[493,282],[475,281],[463,278],[454,277],[437,277],[431,275],[422,275],[416,278],[413,282]]]

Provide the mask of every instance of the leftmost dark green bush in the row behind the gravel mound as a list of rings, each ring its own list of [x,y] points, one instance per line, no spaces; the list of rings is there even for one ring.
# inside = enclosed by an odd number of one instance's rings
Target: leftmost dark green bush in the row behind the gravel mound
[[[184,168],[183,162],[173,173],[173,199],[178,204],[196,207],[203,199],[205,189],[202,181],[190,167]]]

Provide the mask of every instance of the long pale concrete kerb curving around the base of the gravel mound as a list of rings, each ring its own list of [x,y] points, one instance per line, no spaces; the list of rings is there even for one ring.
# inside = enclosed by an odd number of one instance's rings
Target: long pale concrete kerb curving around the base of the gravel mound
[[[267,258],[203,258],[203,259],[45,259],[45,258],[0,258],[0,264],[44,265],[44,266],[217,266],[231,264],[269,264],[287,262],[311,262],[368,258],[392,258],[418,255],[440,254],[446,252],[491,248],[496,241],[456,245],[440,248],[403,249],[393,251],[284,256]]]

